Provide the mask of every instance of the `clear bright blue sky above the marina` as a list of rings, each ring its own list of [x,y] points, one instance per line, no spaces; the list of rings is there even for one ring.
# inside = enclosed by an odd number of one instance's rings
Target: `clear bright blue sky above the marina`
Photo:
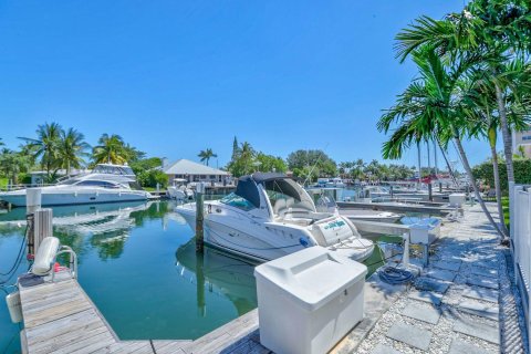
[[[232,139],[285,157],[381,158],[375,124],[415,75],[394,35],[462,0],[2,1],[0,137],[73,126],[148,155],[230,159]],[[488,155],[470,143],[472,163]],[[455,150],[450,158],[456,159]],[[423,158],[426,160],[426,157]],[[415,164],[416,153],[403,159]],[[216,162],[215,162],[216,164]]]

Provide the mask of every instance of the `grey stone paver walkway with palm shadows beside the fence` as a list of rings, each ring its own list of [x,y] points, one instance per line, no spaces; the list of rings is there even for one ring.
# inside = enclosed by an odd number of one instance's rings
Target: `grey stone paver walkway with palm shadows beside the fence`
[[[502,299],[512,298],[513,291],[507,252],[479,206],[466,207],[466,217],[445,222],[430,264],[382,315],[355,353],[507,352],[500,327],[507,326],[507,320],[518,323],[514,311],[513,319],[500,315]],[[524,353],[521,342],[510,352]]]

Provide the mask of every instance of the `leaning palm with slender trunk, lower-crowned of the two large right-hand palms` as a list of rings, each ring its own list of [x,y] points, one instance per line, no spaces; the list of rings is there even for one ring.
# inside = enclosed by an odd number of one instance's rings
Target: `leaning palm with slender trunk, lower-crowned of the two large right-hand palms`
[[[456,144],[461,163],[472,185],[485,215],[493,228],[503,237],[493,220],[476,184],[461,136],[468,128],[465,117],[466,105],[461,80],[477,64],[475,55],[461,56],[445,65],[433,46],[424,45],[410,53],[418,66],[419,76],[398,96],[397,103],[378,122],[378,129],[385,133],[398,124],[391,138],[384,143],[384,158],[399,158],[412,144],[436,138],[444,145]]]

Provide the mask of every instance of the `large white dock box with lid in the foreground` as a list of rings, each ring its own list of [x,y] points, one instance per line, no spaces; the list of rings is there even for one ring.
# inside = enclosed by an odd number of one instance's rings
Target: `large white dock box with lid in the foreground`
[[[262,345],[277,354],[329,352],[363,319],[366,273],[322,247],[257,267]]]

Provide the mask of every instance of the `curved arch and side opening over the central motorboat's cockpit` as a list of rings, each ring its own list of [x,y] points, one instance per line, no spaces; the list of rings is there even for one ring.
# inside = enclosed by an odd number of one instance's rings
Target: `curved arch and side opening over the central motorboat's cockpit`
[[[292,179],[273,179],[263,184],[274,214],[282,209],[315,211],[312,199]]]

